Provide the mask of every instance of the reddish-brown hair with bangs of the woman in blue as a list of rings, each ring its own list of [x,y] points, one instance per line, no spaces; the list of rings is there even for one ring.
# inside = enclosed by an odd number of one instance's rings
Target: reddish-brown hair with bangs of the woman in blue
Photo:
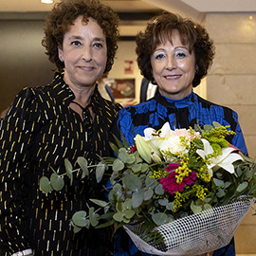
[[[192,86],[196,87],[207,73],[214,57],[213,41],[207,30],[190,19],[184,19],[170,12],[163,12],[153,17],[144,32],[137,34],[137,64],[148,81],[155,83],[151,55],[156,46],[165,40],[172,42],[172,31],[177,30],[181,43],[189,46],[190,53],[194,52],[196,71]]]

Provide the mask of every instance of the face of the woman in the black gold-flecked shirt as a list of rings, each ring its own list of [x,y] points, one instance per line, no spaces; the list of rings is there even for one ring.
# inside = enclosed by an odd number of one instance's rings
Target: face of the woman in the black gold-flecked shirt
[[[82,16],[64,34],[59,58],[64,60],[64,82],[71,88],[91,87],[101,77],[107,62],[106,37],[98,23]]]

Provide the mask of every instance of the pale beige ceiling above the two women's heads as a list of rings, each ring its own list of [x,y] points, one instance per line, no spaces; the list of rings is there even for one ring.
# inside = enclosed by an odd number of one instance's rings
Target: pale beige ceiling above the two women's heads
[[[54,1],[57,3],[62,0]],[[126,13],[120,23],[120,33],[123,36],[137,34],[137,31],[144,28],[148,19],[144,14],[155,13],[161,9],[191,17],[199,23],[204,21],[207,12],[256,13],[256,0],[101,0],[101,2],[119,13]],[[41,4],[40,0],[0,0],[0,7],[0,17],[8,18],[13,16],[13,13],[25,15],[31,12],[34,12],[34,17],[38,12],[50,11],[53,4]]]

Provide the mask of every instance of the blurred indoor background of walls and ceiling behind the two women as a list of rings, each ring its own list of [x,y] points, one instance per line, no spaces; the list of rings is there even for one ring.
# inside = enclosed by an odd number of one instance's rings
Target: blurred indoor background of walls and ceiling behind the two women
[[[47,60],[41,41],[46,14],[60,1],[0,0],[0,112],[23,87],[51,82],[54,66]],[[192,18],[208,29],[216,46],[210,73],[196,92],[238,113],[249,155],[256,155],[256,0],[101,2],[116,10],[120,18],[118,56],[108,74],[109,81],[116,84],[113,90],[119,87],[116,101],[126,97],[139,101],[142,77],[137,68],[135,36],[147,21],[162,10]],[[256,216],[251,213],[235,234],[239,256],[256,255]]]

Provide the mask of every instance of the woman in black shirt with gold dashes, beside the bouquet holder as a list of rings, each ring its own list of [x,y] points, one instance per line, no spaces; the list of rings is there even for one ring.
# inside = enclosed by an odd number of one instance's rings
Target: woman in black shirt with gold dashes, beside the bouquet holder
[[[89,164],[111,155],[120,106],[101,98],[97,80],[118,48],[118,15],[98,0],[67,0],[46,17],[43,45],[56,64],[54,80],[23,89],[3,120],[0,152],[0,255],[99,256],[113,253],[108,229],[70,225],[89,198],[104,199],[95,174],[74,174],[59,192],[45,194],[39,180],[65,173],[78,156]],[[113,139],[114,140],[114,139]],[[65,179],[65,176],[64,176]],[[68,178],[67,178],[68,180]]]

